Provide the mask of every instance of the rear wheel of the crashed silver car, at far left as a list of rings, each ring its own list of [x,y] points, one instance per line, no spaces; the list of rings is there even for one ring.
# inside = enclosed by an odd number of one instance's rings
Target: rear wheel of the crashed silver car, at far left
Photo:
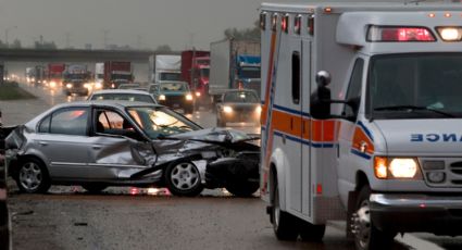
[[[47,192],[51,186],[50,177],[43,163],[34,158],[21,160],[16,184],[21,191],[28,193]]]

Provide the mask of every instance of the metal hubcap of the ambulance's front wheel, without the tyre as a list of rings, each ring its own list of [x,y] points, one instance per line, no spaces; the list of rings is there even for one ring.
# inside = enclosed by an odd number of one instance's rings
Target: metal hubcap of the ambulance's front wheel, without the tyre
[[[361,208],[353,214],[352,233],[362,249],[366,249],[371,237],[371,212],[369,201],[364,200]]]

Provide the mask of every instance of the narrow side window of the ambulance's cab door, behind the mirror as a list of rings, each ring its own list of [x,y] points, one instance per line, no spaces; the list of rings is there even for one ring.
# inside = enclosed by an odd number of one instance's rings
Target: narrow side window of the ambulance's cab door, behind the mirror
[[[357,109],[352,109],[350,105],[345,105],[344,114],[351,120],[357,120],[358,109],[361,100],[361,83],[363,75],[364,60],[357,59],[354,62],[353,72],[351,73],[350,83],[348,84],[347,100],[354,100]]]

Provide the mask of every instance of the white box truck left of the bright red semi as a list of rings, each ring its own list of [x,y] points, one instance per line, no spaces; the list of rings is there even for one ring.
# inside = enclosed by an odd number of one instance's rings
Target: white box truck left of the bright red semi
[[[182,80],[180,53],[155,53],[149,57],[151,83],[161,80]]]

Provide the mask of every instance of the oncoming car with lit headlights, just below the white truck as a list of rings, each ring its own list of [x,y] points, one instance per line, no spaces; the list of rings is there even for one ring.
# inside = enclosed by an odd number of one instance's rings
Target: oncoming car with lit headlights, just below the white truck
[[[149,87],[158,103],[172,109],[183,109],[185,114],[193,112],[193,96],[186,82],[162,80]]]

